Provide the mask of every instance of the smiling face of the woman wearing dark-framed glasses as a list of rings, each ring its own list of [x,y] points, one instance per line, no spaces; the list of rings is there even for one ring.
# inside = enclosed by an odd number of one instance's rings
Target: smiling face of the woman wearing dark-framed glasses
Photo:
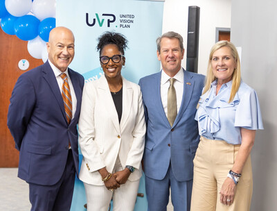
[[[121,54],[122,53],[118,50],[116,44],[107,44],[105,47],[103,47],[100,56],[107,56],[111,58],[114,55]],[[121,57],[121,60],[118,63],[115,63],[110,59],[107,64],[100,64],[108,80],[111,78],[121,78],[121,69],[123,65],[125,65],[125,58]]]

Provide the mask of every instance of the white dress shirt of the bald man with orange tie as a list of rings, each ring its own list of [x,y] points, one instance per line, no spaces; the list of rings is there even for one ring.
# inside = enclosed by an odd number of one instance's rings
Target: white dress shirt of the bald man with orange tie
[[[60,76],[60,74],[62,74],[62,71],[60,71],[60,69],[57,69],[57,67],[55,67],[55,65],[53,65],[53,63],[50,60],[48,60],[48,62],[49,62],[49,65],[51,66],[51,68],[52,68],[52,70],[55,74],[55,77],[56,77],[56,80],[57,80],[57,85],[59,85],[60,92],[62,94],[62,84],[64,83],[64,80]],[[66,71],[64,71],[64,74],[66,74],[67,80],[69,81],[69,88],[70,88],[71,100],[72,100],[72,119],[73,119],[74,115],[75,115],[75,111],[76,111],[77,99],[76,99],[76,95],[75,95],[75,92],[74,92],[74,88],[73,88],[71,79],[69,77],[68,68],[66,68]]]

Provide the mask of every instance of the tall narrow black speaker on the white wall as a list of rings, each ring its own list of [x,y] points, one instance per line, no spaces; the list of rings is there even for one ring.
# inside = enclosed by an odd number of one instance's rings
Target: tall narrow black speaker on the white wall
[[[200,8],[188,7],[188,42],[186,45],[186,70],[197,73],[199,47]]]

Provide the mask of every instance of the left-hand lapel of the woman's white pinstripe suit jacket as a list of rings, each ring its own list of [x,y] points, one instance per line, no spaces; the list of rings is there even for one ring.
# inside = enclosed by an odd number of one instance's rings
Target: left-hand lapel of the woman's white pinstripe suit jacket
[[[111,121],[114,124],[114,128],[116,128],[116,131],[118,132],[118,134],[120,134],[120,127],[119,127],[116,106],[114,105],[114,100],[112,99],[111,92],[109,91],[109,85],[108,85],[107,79],[105,78],[105,75],[102,75],[101,78],[99,78],[98,82],[99,82],[98,90],[101,96],[101,99],[99,100],[105,102],[104,103],[105,110],[109,113],[109,117],[111,117]]]

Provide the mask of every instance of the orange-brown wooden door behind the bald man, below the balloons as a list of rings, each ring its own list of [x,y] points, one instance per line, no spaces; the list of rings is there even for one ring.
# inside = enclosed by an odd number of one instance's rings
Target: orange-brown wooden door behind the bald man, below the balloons
[[[28,60],[30,67],[26,71],[43,64],[42,60],[30,56],[27,44],[27,41],[8,35],[0,28],[0,167],[18,167],[19,152],[7,126],[12,89],[17,78],[25,72],[19,69],[18,62]]]

